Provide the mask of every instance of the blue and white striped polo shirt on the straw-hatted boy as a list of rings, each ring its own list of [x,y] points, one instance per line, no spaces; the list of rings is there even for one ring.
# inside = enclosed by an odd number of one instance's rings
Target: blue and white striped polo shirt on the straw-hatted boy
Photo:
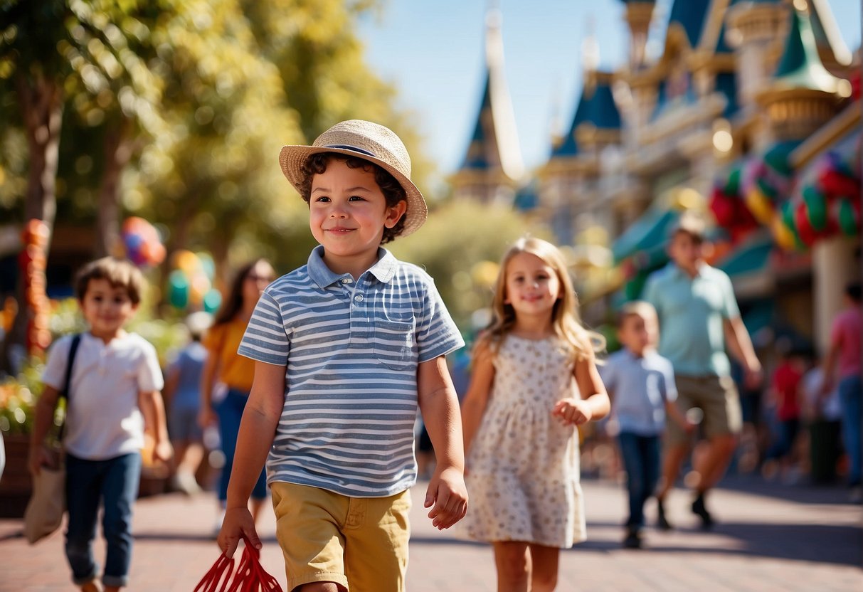
[[[416,482],[417,367],[463,347],[428,274],[386,249],[358,280],[308,264],[261,295],[243,356],[287,366],[268,482],[386,497]]]

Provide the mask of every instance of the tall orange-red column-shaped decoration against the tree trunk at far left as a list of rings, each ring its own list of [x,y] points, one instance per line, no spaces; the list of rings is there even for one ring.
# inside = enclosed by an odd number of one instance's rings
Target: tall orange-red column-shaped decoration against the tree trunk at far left
[[[27,306],[27,334],[24,347],[32,355],[41,355],[51,344],[48,327],[48,297],[45,266],[48,238],[47,224],[33,218],[22,232],[23,249],[18,255],[24,280],[24,304]]]

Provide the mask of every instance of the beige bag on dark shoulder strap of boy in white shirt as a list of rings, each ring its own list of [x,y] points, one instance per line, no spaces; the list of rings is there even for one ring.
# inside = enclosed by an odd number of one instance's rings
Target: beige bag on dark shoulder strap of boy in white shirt
[[[72,345],[69,347],[69,360],[66,362],[66,376],[63,379],[63,390],[60,391],[58,402],[66,399],[68,410],[69,381],[72,379],[72,363],[75,362],[75,354],[81,336],[72,337]],[[60,425],[57,435],[57,445],[52,446],[54,452],[54,463],[51,467],[42,467],[39,475],[33,475],[33,494],[28,501],[27,509],[24,511],[24,537],[30,545],[60,528],[63,521],[63,513],[66,511],[66,461],[63,458],[61,441],[63,431],[66,427],[66,417]]]

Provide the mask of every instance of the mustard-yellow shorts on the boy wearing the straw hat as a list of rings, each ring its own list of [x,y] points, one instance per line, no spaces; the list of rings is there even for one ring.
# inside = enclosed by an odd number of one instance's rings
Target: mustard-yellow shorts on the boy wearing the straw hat
[[[410,490],[348,497],[285,482],[271,490],[289,592],[313,582],[350,592],[404,592]]]

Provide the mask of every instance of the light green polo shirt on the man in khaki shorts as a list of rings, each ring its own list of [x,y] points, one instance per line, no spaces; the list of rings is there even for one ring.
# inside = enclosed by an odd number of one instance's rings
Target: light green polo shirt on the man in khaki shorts
[[[722,322],[740,317],[728,274],[702,263],[690,278],[673,261],[647,280],[644,299],[659,315],[659,354],[676,374],[731,374]]]

